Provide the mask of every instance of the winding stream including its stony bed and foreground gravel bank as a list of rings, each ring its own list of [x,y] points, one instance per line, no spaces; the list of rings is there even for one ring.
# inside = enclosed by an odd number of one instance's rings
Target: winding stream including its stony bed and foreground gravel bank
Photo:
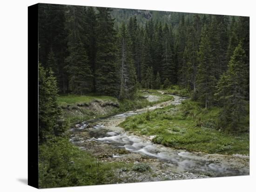
[[[128,116],[168,105],[179,105],[184,99],[186,98],[174,96],[174,101],[83,122],[81,127],[70,129],[70,141],[102,161],[143,162],[151,167],[152,173],[118,173],[125,182],[249,175],[248,156],[177,150],[152,143],[154,135],[136,136],[118,126]]]

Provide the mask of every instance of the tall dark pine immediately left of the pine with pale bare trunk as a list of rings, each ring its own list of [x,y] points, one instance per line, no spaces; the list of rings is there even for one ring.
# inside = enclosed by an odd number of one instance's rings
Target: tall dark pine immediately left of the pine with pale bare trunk
[[[117,96],[116,33],[110,8],[97,7],[96,89],[102,95]]]

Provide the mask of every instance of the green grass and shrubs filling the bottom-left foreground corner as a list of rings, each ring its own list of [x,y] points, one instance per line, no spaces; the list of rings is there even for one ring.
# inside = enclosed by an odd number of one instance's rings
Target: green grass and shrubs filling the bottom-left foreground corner
[[[99,185],[121,182],[120,169],[132,163],[102,162],[75,147],[66,138],[56,137],[39,147],[39,187]]]

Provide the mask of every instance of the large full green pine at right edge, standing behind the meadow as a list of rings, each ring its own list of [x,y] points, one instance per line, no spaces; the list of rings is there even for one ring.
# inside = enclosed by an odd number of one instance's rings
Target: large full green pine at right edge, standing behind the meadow
[[[217,101],[222,106],[221,122],[234,131],[246,113],[246,64],[245,51],[241,43],[236,47],[228,65],[228,70],[222,75],[217,84]]]

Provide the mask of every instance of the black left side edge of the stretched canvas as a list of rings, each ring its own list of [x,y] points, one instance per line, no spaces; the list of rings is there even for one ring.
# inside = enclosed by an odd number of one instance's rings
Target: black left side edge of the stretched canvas
[[[38,188],[38,4],[28,7],[28,185]]]

